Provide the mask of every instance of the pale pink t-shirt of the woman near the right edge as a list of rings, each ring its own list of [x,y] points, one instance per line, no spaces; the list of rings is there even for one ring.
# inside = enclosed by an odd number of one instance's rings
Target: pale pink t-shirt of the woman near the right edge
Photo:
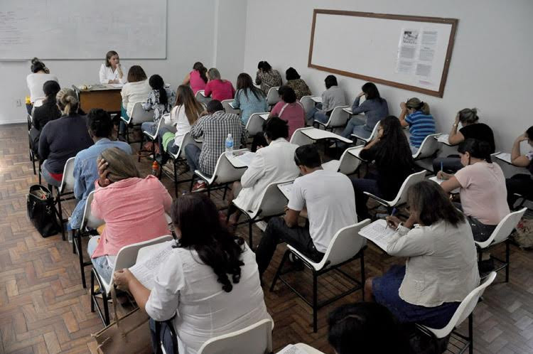
[[[485,225],[497,225],[510,213],[502,168],[496,163],[476,162],[455,174],[461,183],[461,207],[465,215]]]

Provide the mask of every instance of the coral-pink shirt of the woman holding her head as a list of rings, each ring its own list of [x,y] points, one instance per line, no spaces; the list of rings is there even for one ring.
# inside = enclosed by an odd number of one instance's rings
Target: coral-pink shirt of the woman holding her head
[[[92,258],[117,255],[132,243],[170,235],[165,211],[172,197],[155,176],[127,178],[100,187],[95,182],[91,211],[105,221],[105,229]]]

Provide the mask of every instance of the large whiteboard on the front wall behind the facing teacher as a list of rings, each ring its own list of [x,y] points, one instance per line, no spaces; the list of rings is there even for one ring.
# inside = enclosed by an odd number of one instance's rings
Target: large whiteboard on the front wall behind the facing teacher
[[[0,60],[166,58],[166,0],[0,0]]]

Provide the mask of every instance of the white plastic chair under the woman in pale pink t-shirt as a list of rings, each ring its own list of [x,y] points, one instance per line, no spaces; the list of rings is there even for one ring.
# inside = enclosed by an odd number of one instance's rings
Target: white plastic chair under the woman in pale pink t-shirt
[[[515,212],[512,212],[510,214],[505,215],[505,218],[498,223],[494,231],[492,231],[492,234],[490,234],[490,237],[483,241],[483,242],[475,242],[475,247],[478,248],[478,254],[479,254],[479,260],[482,260],[483,252],[488,250],[490,247],[498,245],[502,242],[505,242],[505,261],[502,259],[498,259],[493,254],[490,254],[490,257],[492,259],[496,259],[498,262],[500,262],[502,265],[495,269],[495,272],[499,272],[501,269],[505,268],[505,282],[507,283],[509,281],[509,263],[510,263],[510,241],[509,241],[509,235],[511,235],[512,230],[515,230],[515,227],[517,227],[518,222],[520,222],[520,219],[524,216],[526,213],[527,208],[522,208],[520,210],[517,210]]]

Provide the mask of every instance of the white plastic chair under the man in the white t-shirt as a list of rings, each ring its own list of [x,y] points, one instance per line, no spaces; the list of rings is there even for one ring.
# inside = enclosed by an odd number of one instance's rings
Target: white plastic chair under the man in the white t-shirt
[[[324,257],[321,260],[321,262],[313,262],[308,257],[304,256],[301,252],[296,250],[296,248],[292,247],[291,245],[287,245],[287,250],[283,256],[283,259],[281,259],[281,263],[279,264],[279,268],[276,272],[276,275],[274,276],[274,280],[272,280],[272,285],[270,286],[270,291],[274,291],[274,286],[276,285],[276,281],[279,279],[281,280],[286,286],[289,286],[289,288],[296,293],[296,295],[300,296],[300,298],[306,302],[309,306],[313,308],[313,331],[316,333],[317,331],[317,312],[318,309],[321,307],[331,304],[333,301],[337,301],[338,299],[342,298],[343,296],[346,296],[348,294],[351,294],[353,291],[357,291],[361,289],[363,293],[363,297],[365,295],[365,246],[366,246],[366,239],[359,235],[359,231],[362,229],[362,227],[365,227],[366,225],[370,224],[370,219],[362,220],[361,222],[357,222],[357,224],[350,225],[343,227],[342,229],[338,230],[333,238],[330,241],[330,244],[328,245],[328,250],[325,251]],[[311,272],[313,273],[313,299],[312,302],[308,301],[305,297],[301,295],[300,292],[298,292],[296,289],[294,289],[291,284],[289,284],[286,279],[281,277],[281,269],[283,268],[286,260],[289,258],[289,254],[294,254],[296,257],[301,259],[303,261],[303,264],[306,265],[309,269],[311,269]],[[349,262],[352,262],[354,259],[360,259],[361,262],[361,279],[357,280],[354,277],[350,276],[349,274],[346,274],[343,270],[341,270],[339,267],[343,264],[347,264]],[[342,294],[339,294],[337,296],[334,296],[332,299],[328,299],[325,301],[322,301],[321,303],[318,303],[318,296],[317,296],[317,278],[318,276],[325,274],[326,272],[329,272],[330,270],[337,270],[340,274],[344,275],[351,281],[355,283],[355,286],[351,289],[348,289],[346,291],[343,291]]]

